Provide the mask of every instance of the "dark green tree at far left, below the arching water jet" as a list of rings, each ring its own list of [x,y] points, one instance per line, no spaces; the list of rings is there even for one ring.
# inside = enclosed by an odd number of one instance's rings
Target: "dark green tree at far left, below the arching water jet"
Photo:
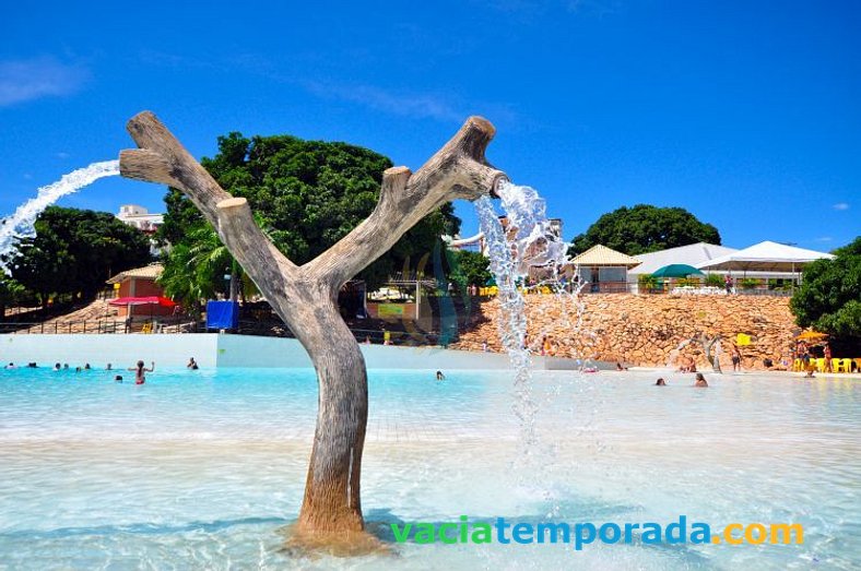
[[[36,236],[19,241],[9,267],[43,306],[51,294],[92,299],[111,275],[151,260],[149,238],[106,212],[50,206],[34,226]]]

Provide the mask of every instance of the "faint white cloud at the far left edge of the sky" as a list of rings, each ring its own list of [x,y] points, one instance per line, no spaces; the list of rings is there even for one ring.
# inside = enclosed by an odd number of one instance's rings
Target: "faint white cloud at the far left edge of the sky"
[[[51,57],[0,61],[0,107],[47,96],[68,95],[90,78],[80,66]]]

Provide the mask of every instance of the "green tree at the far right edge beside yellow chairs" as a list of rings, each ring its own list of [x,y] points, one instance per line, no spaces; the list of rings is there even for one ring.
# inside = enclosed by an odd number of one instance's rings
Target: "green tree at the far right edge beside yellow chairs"
[[[861,236],[804,269],[804,282],[789,307],[795,323],[838,341],[861,343]]]

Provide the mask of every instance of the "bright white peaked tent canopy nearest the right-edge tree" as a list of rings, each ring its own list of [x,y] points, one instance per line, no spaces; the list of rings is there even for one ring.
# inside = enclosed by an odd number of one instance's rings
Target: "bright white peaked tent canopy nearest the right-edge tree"
[[[831,259],[834,255],[766,240],[744,250],[707,260],[696,264],[696,267],[699,270],[729,270],[738,272],[794,273],[801,270],[804,264],[823,258]]]

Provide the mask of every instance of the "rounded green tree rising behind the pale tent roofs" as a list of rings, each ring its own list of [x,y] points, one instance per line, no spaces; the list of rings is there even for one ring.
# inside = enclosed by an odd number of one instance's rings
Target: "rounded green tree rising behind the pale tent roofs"
[[[699,222],[684,209],[637,204],[630,209],[622,206],[598,218],[574,239],[568,254],[577,255],[599,243],[636,255],[697,242],[720,245],[720,234],[715,226]]]

